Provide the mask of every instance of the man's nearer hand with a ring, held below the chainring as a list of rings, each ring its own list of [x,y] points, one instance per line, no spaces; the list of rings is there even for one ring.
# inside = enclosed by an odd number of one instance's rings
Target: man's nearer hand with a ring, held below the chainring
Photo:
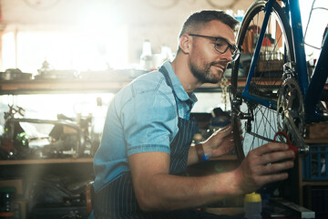
[[[241,193],[251,193],[267,183],[282,181],[288,178],[283,172],[293,167],[295,153],[287,144],[267,143],[250,151],[236,169]]]

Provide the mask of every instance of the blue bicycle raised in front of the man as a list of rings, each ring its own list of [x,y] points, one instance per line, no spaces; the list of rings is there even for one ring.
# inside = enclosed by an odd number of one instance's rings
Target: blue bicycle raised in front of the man
[[[239,160],[248,151],[272,142],[282,131],[300,152],[308,152],[305,125],[326,120],[321,97],[328,76],[328,31],[312,78],[306,64],[298,0],[255,1],[242,19],[237,47],[241,56],[231,64],[229,92]],[[242,71],[247,79],[241,88]],[[240,120],[245,120],[243,138]],[[282,136],[279,141],[286,142]]]

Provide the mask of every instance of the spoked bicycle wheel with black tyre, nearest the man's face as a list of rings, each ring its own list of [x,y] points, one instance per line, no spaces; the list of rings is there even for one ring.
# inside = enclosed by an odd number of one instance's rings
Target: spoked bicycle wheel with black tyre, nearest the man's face
[[[277,115],[275,106],[264,106],[258,101],[245,98],[241,93],[244,81],[242,74],[249,74],[251,59],[260,36],[267,1],[257,1],[251,5],[244,16],[237,37],[241,56],[232,63],[231,110],[236,153],[240,161],[256,147],[273,141],[274,134],[282,126],[282,118]],[[261,42],[261,51],[256,63],[248,92],[257,99],[277,103],[279,89],[282,87],[282,72],[285,63],[294,60],[292,32],[288,17],[281,5],[272,4],[272,13]],[[241,120],[242,137],[239,131]],[[243,122],[244,120],[244,122]],[[285,141],[283,139],[279,141]]]

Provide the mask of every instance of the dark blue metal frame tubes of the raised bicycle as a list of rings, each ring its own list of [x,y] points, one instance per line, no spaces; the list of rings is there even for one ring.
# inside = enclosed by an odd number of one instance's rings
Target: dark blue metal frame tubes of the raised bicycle
[[[269,16],[272,13],[272,2],[276,0],[268,0],[266,7],[264,8],[265,16],[261,26],[261,32],[258,43],[255,47],[254,55],[251,60],[250,71],[246,80],[245,89],[242,92],[242,97],[248,101],[254,101],[261,105],[276,110],[277,101],[272,99],[264,99],[261,97],[253,96],[249,93],[249,87],[251,84],[251,78],[254,75],[256,63],[260,56],[261,44],[264,38],[266,27],[268,26]],[[309,81],[305,49],[304,49],[304,37],[302,34],[302,19],[301,11],[298,0],[285,0],[287,13],[290,15],[290,21],[292,25],[292,47],[295,57],[295,68],[297,72],[297,80],[299,87],[302,91],[302,97],[304,99],[304,110],[306,115],[306,122],[313,122],[320,120],[320,111],[317,104],[320,101],[322,95],[323,86],[328,76],[328,31],[323,39],[323,47],[320,57],[317,61],[316,68],[313,72],[313,77]]]

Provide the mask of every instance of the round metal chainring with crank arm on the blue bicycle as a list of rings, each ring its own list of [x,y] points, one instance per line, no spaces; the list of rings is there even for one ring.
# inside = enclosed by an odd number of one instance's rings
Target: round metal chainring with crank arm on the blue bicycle
[[[292,145],[299,148],[299,152],[309,151],[304,142],[305,113],[302,91],[293,78],[282,82],[277,104],[278,129],[285,131],[292,141]]]

